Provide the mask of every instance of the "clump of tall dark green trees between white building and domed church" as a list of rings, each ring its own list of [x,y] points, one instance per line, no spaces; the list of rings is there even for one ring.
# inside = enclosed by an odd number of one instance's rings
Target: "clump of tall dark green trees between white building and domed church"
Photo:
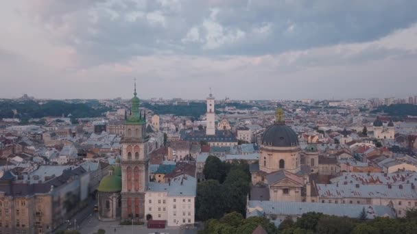
[[[250,192],[249,165],[246,161],[233,164],[208,156],[204,165],[206,181],[198,183],[196,215],[199,220],[221,218],[236,211],[246,215],[246,197]]]

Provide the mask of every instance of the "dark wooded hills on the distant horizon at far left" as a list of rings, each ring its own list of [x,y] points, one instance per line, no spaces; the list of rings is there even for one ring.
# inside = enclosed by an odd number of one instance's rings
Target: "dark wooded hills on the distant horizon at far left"
[[[12,111],[16,109],[17,114]],[[45,116],[65,116],[71,114],[72,118],[87,118],[102,116],[110,110],[108,107],[93,107],[88,103],[67,103],[64,101],[47,101],[40,104],[35,101],[3,101],[0,103],[0,118],[20,118],[22,122],[30,118],[43,118]]]

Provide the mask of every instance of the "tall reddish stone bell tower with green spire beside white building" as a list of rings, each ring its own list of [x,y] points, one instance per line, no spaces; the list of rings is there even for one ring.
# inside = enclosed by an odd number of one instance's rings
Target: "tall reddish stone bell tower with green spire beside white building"
[[[143,220],[145,192],[148,182],[147,141],[145,116],[139,110],[136,81],[132,98],[132,114],[124,124],[121,139],[121,218]]]

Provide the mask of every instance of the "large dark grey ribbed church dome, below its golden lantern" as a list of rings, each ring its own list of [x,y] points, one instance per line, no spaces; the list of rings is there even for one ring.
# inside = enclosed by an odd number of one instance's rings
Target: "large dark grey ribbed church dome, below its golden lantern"
[[[298,146],[297,133],[287,125],[271,125],[263,133],[262,144],[275,147]]]

